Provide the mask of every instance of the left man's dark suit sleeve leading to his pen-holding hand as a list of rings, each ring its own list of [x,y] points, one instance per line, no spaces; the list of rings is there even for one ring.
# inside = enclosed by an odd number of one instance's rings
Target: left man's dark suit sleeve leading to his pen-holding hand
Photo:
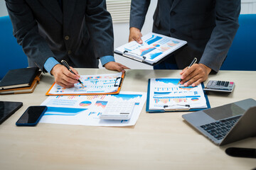
[[[54,57],[48,43],[38,33],[38,24],[29,6],[23,0],[6,0],[6,7],[13,24],[14,37],[28,58],[43,70],[48,57]],[[31,65],[31,63],[29,63]]]

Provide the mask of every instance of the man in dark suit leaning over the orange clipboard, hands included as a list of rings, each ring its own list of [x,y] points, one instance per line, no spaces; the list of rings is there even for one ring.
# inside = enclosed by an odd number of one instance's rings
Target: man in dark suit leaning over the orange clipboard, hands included
[[[28,56],[28,65],[50,72],[60,86],[72,87],[80,77],[62,64],[124,72],[114,62],[112,18],[105,0],[6,0],[14,36]]]

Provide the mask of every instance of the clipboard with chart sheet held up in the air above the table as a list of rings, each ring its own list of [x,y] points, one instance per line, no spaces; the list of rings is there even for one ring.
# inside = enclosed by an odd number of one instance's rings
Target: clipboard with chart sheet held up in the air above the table
[[[142,44],[132,41],[121,47],[117,47],[114,53],[138,62],[154,65],[187,43],[184,40],[178,40],[156,33],[148,33],[142,36],[142,41]]]

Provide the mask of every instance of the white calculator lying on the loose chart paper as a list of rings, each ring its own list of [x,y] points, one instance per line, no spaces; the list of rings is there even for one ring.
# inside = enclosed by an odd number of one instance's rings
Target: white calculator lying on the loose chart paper
[[[105,120],[129,120],[134,110],[135,102],[108,101],[100,119]]]

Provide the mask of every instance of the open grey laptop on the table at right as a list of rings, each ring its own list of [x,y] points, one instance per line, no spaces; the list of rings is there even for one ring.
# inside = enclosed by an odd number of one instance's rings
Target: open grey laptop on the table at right
[[[184,114],[182,118],[219,146],[256,136],[256,101],[252,98]]]

